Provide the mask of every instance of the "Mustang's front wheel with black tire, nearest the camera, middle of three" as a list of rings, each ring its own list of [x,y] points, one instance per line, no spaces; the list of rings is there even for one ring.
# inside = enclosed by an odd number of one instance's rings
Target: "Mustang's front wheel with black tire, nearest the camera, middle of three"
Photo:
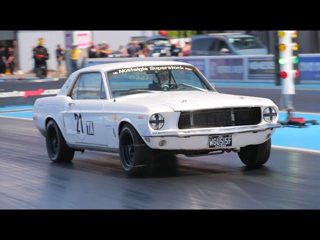
[[[125,123],[119,136],[120,162],[129,176],[145,176],[153,161],[153,150],[148,147],[135,128]]]

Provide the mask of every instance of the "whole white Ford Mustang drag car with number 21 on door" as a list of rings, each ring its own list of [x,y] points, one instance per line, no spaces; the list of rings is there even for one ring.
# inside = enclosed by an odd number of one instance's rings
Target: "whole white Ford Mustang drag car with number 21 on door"
[[[33,120],[52,161],[74,151],[119,152],[129,175],[143,175],[174,154],[235,151],[264,164],[278,107],[269,99],[218,93],[194,66],[130,61],[73,72],[56,96],[38,98]]]

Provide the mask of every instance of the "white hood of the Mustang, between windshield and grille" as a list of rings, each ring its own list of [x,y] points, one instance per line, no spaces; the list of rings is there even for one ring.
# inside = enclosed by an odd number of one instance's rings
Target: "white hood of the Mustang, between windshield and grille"
[[[201,91],[138,93],[118,99],[136,104],[162,104],[171,107],[174,111],[217,107],[274,105],[274,103],[267,98]]]

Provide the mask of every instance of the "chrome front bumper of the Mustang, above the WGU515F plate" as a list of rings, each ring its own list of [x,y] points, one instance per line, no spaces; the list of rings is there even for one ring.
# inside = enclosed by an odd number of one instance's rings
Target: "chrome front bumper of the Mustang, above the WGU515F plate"
[[[189,137],[189,136],[202,136],[202,135],[220,135],[230,133],[242,133],[242,132],[258,132],[265,131],[271,128],[282,127],[280,123],[268,123],[257,126],[239,126],[239,127],[220,127],[214,129],[190,129],[190,130],[179,130],[179,131],[154,131],[154,132],[143,132],[141,136],[177,136],[177,137]]]

